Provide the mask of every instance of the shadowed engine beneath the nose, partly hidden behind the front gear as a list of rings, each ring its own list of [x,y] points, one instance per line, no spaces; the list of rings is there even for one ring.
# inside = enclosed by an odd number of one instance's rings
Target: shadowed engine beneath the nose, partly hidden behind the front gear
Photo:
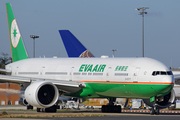
[[[159,108],[163,109],[169,107],[175,100],[175,92],[172,89],[170,93],[165,96],[158,97],[157,101],[150,102],[150,99],[143,99],[144,103],[150,107],[157,105]]]

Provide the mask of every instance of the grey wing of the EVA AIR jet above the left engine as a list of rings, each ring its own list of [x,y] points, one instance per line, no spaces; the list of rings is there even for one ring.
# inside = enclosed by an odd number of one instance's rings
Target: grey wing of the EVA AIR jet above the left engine
[[[66,93],[74,93],[86,87],[84,83],[78,82],[78,81],[65,81],[65,80],[0,75],[0,82],[11,82],[11,83],[21,84],[21,83],[31,83],[31,82],[36,82],[36,81],[51,82],[54,85],[56,85],[59,90]]]

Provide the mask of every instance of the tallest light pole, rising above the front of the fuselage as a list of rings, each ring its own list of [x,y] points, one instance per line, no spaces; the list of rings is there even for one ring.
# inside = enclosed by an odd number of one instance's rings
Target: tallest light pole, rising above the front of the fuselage
[[[146,9],[149,9],[149,7],[142,7],[135,9],[140,11],[138,13],[139,15],[142,15],[142,57],[144,57],[144,14],[147,14]]]

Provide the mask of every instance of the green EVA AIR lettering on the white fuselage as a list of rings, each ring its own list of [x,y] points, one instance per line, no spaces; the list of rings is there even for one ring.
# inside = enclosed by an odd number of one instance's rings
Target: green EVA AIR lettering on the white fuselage
[[[105,64],[82,64],[79,68],[79,72],[104,72]]]

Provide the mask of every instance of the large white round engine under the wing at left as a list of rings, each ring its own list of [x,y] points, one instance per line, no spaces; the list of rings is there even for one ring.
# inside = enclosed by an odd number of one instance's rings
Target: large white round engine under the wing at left
[[[25,90],[26,101],[38,108],[53,106],[59,98],[57,87],[51,82],[38,81],[30,84]]]

